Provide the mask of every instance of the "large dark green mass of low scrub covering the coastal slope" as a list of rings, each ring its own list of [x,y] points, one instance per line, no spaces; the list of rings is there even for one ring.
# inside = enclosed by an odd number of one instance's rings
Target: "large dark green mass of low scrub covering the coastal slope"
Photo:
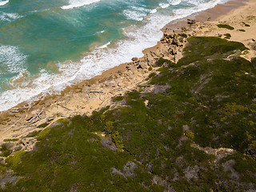
[[[38,135],[36,150],[6,159],[22,178],[2,191],[254,189],[255,59],[239,57],[246,50],[239,42],[188,41],[177,64],[159,58],[149,84],[113,98],[122,106],[31,134]],[[155,91],[143,91],[148,86]],[[234,152],[216,161],[196,146]]]

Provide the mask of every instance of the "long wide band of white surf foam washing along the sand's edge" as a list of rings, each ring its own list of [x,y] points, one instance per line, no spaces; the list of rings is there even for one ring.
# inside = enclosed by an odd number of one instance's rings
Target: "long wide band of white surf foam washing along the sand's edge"
[[[0,94],[0,111],[8,110],[28,99],[32,102],[46,94],[59,94],[66,86],[81,82],[86,78],[93,78],[95,75],[101,74],[103,70],[108,70],[123,62],[130,62],[130,58],[142,57],[142,50],[156,45],[162,37],[160,29],[167,22],[209,9],[220,1],[222,0],[202,3],[190,9],[175,10],[174,15],[171,16],[150,14],[146,18],[144,26],[139,28],[130,26],[124,29],[124,34],[130,39],[116,43],[114,46],[116,48],[108,46],[107,49],[95,49],[80,62],[59,63],[58,74],[50,74],[46,70],[42,70],[38,77],[31,78],[25,87],[20,86]]]

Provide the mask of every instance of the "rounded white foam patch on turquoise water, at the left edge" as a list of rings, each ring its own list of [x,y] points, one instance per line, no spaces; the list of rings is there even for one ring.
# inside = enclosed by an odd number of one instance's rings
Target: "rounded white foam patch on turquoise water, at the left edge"
[[[0,44],[0,71],[3,73],[19,73],[26,70],[24,63],[26,55],[18,50],[18,46],[4,46]]]

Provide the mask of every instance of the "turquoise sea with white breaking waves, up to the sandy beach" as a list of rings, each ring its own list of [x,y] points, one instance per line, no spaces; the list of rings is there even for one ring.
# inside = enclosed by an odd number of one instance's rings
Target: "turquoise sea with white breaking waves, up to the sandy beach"
[[[141,57],[166,23],[219,2],[0,0],[0,111]]]

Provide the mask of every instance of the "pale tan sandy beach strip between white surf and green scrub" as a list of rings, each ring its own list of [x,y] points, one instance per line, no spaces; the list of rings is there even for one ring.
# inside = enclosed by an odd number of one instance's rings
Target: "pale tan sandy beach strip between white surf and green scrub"
[[[241,1],[228,2],[225,5],[219,5],[200,14],[190,16],[189,18],[201,21],[196,22],[192,26],[188,26],[186,20],[178,20],[171,22],[166,27],[171,27],[171,30],[175,29],[178,33],[184,32],[198,36],[218,36],[229,33],[231,34],[230,40],[242,42],[250,48],[249,54],[242,55],[250,59],[256,56],[256,44],[254,42],[256,39],[256,1],[251,0],[245,4],[242,6]],[[221,14],[224,15],[217,17]],[[206,21],[207,18],[210,18],[210,21]],[[211,21],[213,18],[215,19]],[[245,26],[242,22],[246,22],[250,26]],[[230,24],[235,29],[220,29],[217,27],[218,23]],[[168,30],[170,31],[170,29]],[[239,30],[246,31],[242,32]],[[183,43],[185,44],[186,42]],[[154,65],[155,58],[163,57],[177,61],[178,58],[182,57],[182,45],[171,47],[172,50],[177,52],[175,55],[170,54],[170,45],[168,43],[158,42],[158,46],[145,50],[143,52],[145,56],[139,58],[138,61],[122,64],[88,81],[78,83],[76,86],[67,87],[66,90],[62,91],[61,95],[48,96],[41,101],[34,102],[30,106],[23,102],[11,110],[2,112],[0,114],[0,145],[6,138],[22,138],[31,131],[40,130],[38,128],[34,129],[33,126],[22,127],[38,120],[38,117],[34,117],[41,111],[42,113],[38,116],[42,119],[34,123],[37,126],[46,122],[46,118],[50,117],[53,119],[50,122],[52,123],[56,122],[59,118],[70,117],[74,114],[89,115],[93,110],[98,110],[104,106],[114,108],[111,97],[123,95],[126,91],[135,89],[138,84],[146,82],[146,78],[152,72],[149,68]],[[90,91],[100,91],[102,93],[90,93]],[[30,118],[34,118],[34,120],[28,121]],[[20,121],[17,122],[19,119]],[[14,125],[15,122],[17,123]],[[25,138],[22,139],[24,140]]]

